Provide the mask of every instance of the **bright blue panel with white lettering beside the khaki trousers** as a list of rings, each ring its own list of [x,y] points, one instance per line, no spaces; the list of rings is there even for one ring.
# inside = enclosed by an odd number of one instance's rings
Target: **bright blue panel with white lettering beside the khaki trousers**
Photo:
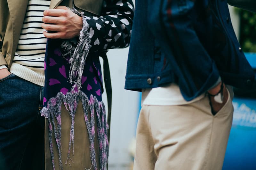
[[[233,106],[222,170],[256,170],[256,100],[234,98]]]

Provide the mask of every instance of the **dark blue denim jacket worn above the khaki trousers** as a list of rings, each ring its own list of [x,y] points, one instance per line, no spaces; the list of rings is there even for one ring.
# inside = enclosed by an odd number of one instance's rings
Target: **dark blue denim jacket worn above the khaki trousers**
[[[238,88],[255,87],[226,0],[140,0],[135,6],[125,89],[173,82],[189,101],[219,78]]]

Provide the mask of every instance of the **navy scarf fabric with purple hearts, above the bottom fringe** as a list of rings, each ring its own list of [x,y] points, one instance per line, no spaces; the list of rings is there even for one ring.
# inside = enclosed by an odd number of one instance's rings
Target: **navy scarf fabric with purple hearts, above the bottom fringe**
[[[53,48],[54,49],[54,48]],[[56,88],[58,92],[67,95],[68,92],[76,93],[79,90],[82,90],[87,96],[93,95],[96,96],[101,100],[101,70],[97,69],[100,68],[100,63],[97,60],[92,60],[86,62],[84,65],[84,72],[81,78],[82,88],[77,89],[77,87],[72,86],[70,87],[68,84],[68,70],[69,70],[69,63],[67,62],[66,58],[69,56],[65,56],[63,59],[62,57],[58,57],[60,55],[60,50],[52,50],[48,62],[44,63],[44,68],[48,71],[48,85],[53,86],[52,88]],[[57,70],[58,69],[58,70]],[[77,74],[77,72],[76,72]],[[54,77],[53,77],[54,75]],[[73,85],[73,84],[72,84]],[[50,95],[51,96],[51,95]],[[47,105],[48,98],[44,96],[44,105]],[[51,100],[52,102],[52,100]]]

